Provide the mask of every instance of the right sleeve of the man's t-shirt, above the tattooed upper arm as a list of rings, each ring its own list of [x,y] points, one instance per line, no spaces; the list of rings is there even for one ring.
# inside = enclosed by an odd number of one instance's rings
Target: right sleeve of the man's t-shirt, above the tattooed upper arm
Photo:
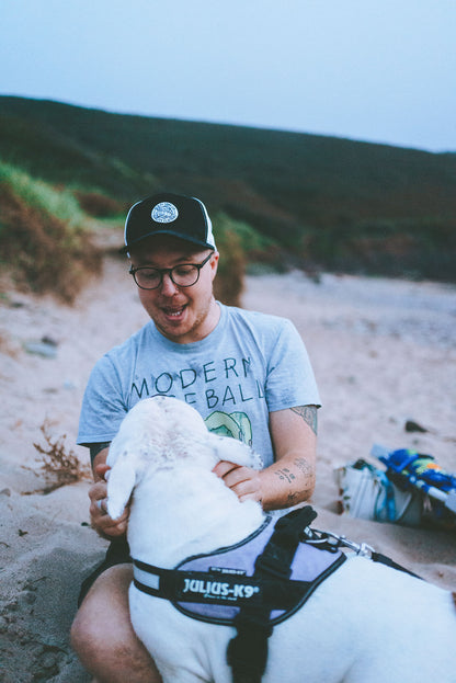
[[[283,320],[269,354],[266,397],[270,412],[294,406],[320,406],[314,369],[301,337]]]

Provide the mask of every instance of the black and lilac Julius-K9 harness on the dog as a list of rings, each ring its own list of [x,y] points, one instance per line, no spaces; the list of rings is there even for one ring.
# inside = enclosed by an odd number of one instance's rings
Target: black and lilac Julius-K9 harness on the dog
[[[266,517],[242,542],[197,555],[174,569],[134,561],[137,589],[170,600],[183,614],[235,626],[227,659],[236,683],[260,682],[273,626],[288,618],[346,559],[331,543],[312,543],[317,513],[295,510],[273,524]]]

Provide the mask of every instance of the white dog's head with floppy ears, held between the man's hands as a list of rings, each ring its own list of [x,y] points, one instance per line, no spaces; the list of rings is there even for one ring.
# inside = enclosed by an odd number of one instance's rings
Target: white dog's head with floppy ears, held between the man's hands
[[[201,414],[184,401],[167,396],[147,398],[126,414],[110,446],[110,516],[121,516],[146,471],[179,467],[183,460],[208,470],[219,460],[262,467],[261,457],[250,446],[208,432]]]

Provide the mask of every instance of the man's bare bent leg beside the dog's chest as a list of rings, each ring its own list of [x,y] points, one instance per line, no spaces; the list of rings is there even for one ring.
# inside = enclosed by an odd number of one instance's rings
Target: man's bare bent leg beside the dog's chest
[[[72,624],[72,648],[98,683],[161,681],[129,619],[132,573],[132,565],[106,569],[89,590]]]

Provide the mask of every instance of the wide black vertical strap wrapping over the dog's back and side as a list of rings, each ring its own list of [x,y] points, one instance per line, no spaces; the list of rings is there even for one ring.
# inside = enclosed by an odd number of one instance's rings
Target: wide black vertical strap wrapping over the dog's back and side
[[[316,516],[317,513],[307,505],[281,517],[263,553],[256,558],[253,578],[266,581],[273,577],[276,588],[277,580],[287,581],[303,531]],[[237,635],[229,641],[227,650],[233,683],[261,682],[267,661],[267,638],[273,630],[271,610],[270,601],[255,596],[242,605],[235,617]]]

